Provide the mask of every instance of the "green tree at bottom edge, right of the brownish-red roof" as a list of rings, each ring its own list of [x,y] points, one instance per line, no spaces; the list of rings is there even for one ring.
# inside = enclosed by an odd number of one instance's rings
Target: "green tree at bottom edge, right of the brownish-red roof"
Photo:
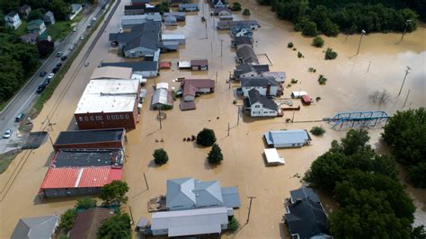
[[[130,217],[119,213],[106,219],[98,230],[98,238],[131,238]]]

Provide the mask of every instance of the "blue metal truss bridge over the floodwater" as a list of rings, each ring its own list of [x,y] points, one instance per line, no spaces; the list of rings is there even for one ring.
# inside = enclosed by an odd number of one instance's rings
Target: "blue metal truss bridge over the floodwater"
[[[377,128],[386,125],[389,116],[385,111],[342,112],[334,115],[329,123],[332,129],[339,128]]]

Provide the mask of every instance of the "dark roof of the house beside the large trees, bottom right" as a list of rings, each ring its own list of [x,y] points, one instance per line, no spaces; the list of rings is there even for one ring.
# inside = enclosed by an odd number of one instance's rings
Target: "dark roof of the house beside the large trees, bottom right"
[[[327,216],[321,204],[311,199],[301,199],[288,206],[288,209],[289,213],[285,217],[290,235],[311,238],[315,235],[330,234]]]

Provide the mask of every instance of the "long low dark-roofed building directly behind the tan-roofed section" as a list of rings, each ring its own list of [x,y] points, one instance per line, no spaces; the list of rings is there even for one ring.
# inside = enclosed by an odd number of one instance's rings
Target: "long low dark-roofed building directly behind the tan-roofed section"
[[[129,61],[129,62],[102,62],[101,66],[119,66],[132,69],[132,73],[144,78],[153,78],[158,75],[157,61]]]

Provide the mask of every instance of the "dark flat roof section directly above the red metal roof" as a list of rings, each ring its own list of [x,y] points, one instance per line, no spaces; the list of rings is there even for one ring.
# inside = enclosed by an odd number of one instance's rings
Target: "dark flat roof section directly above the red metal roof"
[[[122,150],[58,151],[52,167],[89,167],[122,164]]]

